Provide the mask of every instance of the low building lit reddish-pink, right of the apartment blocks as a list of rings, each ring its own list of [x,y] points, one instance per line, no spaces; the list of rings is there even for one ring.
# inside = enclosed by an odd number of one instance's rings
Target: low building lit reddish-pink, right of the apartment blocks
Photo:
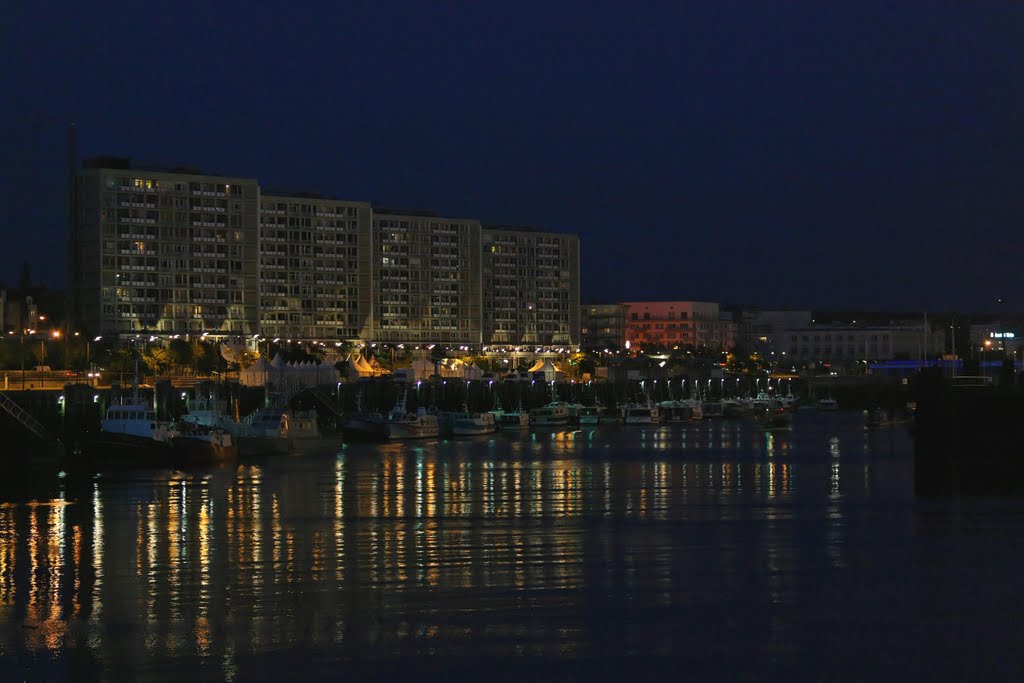
[[[629,301],[626,339],[633,347],[732,348],[734,326],[709,301]]]

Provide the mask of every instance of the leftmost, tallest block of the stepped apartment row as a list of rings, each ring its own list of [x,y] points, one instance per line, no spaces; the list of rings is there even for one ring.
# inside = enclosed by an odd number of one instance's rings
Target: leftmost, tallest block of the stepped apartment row
[[[259,184],[87,161],[74,185],[71,314],[103,334],[251,335]]]

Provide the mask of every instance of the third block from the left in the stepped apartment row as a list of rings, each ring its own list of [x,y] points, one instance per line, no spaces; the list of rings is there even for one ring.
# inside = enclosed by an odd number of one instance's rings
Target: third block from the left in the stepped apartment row
[[[482,344],[480,258],[477,220],[375,211],[369,339]]]

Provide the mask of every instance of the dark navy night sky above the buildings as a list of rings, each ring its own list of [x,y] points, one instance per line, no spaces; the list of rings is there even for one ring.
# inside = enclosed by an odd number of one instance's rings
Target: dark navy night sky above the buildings
[[[1024,310],[1024,3],[0,13],[0,282],[63,284],[75,121],[82,156],[578,232],[585,300]]]

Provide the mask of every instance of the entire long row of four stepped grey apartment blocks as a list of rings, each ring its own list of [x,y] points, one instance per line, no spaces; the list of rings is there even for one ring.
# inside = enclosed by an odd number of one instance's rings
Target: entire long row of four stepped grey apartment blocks
[[[103,335],[572,346],[580,242],[96,158],[72,182],[71,315]]]

